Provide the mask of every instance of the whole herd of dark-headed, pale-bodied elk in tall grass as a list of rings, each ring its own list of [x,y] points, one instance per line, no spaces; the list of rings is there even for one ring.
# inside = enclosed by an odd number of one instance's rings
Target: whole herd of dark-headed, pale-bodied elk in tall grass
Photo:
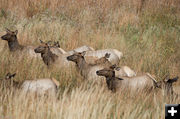
[[[157,81],[149,73],[138,74],[128,66],[118,67],[122,52],[117,49],[94,50],[92,47],[82,46],[71,51],[60,48],[59,42],[43,42],[40,45],[25,46],[21,45],[17,39],[18,31],[6,29],[6,34],[1,37],[7,41],[9,51],[13,54],[25,54],[30,58],[38,58],[44,62],[47,68],[75,68],[87,81],[100,83],[104,80],[105,85],[112,92],[128,90],[131,92],[163,90],[165,95],[174,95],[173,83],[175,78],[165,78]],[[56,95],[59,82],[54,78],[42,78],[34,80],[24,80],[17,82],[13,80],[16,74],[7,73],[0,80],[1,84],[21,89],[23,92],[33,92],[42,94]],[[176,94],[177,95],[177,94]]]

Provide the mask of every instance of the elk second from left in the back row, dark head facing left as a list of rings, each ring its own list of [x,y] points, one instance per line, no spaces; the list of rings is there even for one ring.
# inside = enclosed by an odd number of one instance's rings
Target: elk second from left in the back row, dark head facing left
[[[73,63],[68,62],[66,54],[54,54],[50,50],[50,46],[47,43],[42,43],[39,47],[34,49],[35,53],[40,53],[43,59],[43,62],[48,66],[48,68],[55,66],[58,68],[65,68],[74,66]]]

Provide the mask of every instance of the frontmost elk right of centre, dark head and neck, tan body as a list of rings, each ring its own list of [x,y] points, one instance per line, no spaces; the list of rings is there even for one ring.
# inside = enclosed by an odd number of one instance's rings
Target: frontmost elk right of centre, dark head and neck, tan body
[[[112,91],[119,89],[130,89],[131,91],[148,90],[152,89],[154,83],[157,82],[149,73],[134,77],[115,77],[114,69],[115,66],[112,65],[96,72],[97,75],[106,77],[107,86]]]

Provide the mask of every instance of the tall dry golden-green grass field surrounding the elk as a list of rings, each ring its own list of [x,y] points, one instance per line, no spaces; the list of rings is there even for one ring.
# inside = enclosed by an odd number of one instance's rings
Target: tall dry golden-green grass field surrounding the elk
[[[41,39],[59,41],[66,51],[115,48],[124,54],[119,66],[149,72],[158,81],[180,76],[179,0],[0,0],[0,36],[6,27],[18,30],[23,45],[38,46]],[[16,72],[16,81],[60,82],[58,99],[23,97],[0,87],[0,119],[164,119],[165,104],[180,103],[163,92],[111,93],[74,69],[49,70],[42,60],[18,59],[2,40],[0,55],[0,79]]]

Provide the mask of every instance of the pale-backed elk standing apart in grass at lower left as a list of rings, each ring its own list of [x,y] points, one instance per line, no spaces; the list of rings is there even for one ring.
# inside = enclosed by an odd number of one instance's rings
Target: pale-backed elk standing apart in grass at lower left
[[[16,73],[8,73],[5,78],[1,80],[3,81],[4,86],[12,86],[16,89],[20,89],[24,93],[36,93],[38,95],[55,95],[57,92],[57,87],[59,86],[59,82],[54,78],[42,78],[17,82],[12,79],[15,77],[15,75]]]

